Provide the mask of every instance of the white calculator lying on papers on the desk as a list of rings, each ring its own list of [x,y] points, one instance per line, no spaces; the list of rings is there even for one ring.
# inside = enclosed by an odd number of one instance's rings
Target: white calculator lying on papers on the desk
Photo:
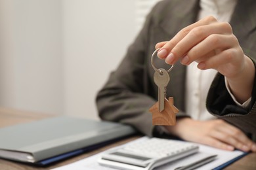
[[[159,138],[145,138],[112,149],[98,160],[100,165],[116,169],[150,170],[198,152],[196,144]]]

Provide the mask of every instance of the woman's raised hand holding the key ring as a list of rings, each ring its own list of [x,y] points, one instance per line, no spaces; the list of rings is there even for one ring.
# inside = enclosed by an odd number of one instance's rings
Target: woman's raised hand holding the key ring
[[[170,41],[159,42],[156,48],[160,48],[158,57],[166,63],[181,59],[183,65],[196,61],[199,69],[216,69],[226,76],[238,102],[251,97],[255,66],[245,56],[230,24],[208,16],[188,25]]]

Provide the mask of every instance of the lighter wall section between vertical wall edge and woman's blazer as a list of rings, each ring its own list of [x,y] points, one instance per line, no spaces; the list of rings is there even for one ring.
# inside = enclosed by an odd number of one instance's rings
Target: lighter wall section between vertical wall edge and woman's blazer
[[[64,110],[96,118],[96,92],[135,37],[135,0],[65,0],[63,9]]]

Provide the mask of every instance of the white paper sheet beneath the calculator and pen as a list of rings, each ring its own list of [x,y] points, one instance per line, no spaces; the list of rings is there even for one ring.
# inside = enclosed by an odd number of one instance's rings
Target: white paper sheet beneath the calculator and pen
[[[139,140],[145,140],[148,137],[141,137],[135,141],[136,142]],[[127,143],[129,144],[129,143]],[[221,150],[217,148],[213,148],[210,146],[205,146],[203,144],[197,144],[199,146],[199,152],[196,154],[193,154],[191,156],[187,156],[186,158],[179,159],[177,161],[172,161],[171,163],[167,163],[165,165],[162,165],[161,167],[157,167],[156,170],[169,170],[169,169],[175,169],[180,166],[188,165],[189,163],[195,162],[197,160],[201,160],[202,158],[205,158],[209,155],[215,155],[217,154],[217,158],[201,167],[198,167],[197,169],[214,169],[215,167],[218,167],[219,165],[223,165],[223,163],[226,163],[227,161],[230,161],[242,154],[244,152],[235,150],[235,151],[226,151],[226,150]],[[123,146],[123,145],[122,145]],[[115,148],[118,148],[121,146],[117,146]],[[62,167],[57,167],[52,170],[70,170],[70,169],[75,169],[75,170],[114,170],[114,168],[110,167],[104,167],[102,165],[99,165],[97,163],[97,160],[100,159],[100,156],[104,152],[100,152],[99,154],[96,154],[94,156],[91,156],[89,158],[85,158],[80,161],[76,161],[75,163],[70,163],[69,165],[64,165]]]

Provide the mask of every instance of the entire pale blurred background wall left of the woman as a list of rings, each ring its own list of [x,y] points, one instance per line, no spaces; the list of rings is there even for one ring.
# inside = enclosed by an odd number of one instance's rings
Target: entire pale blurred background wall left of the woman
[[[97,119],[96,92],[156,1],[0,0],[0,107]]]

